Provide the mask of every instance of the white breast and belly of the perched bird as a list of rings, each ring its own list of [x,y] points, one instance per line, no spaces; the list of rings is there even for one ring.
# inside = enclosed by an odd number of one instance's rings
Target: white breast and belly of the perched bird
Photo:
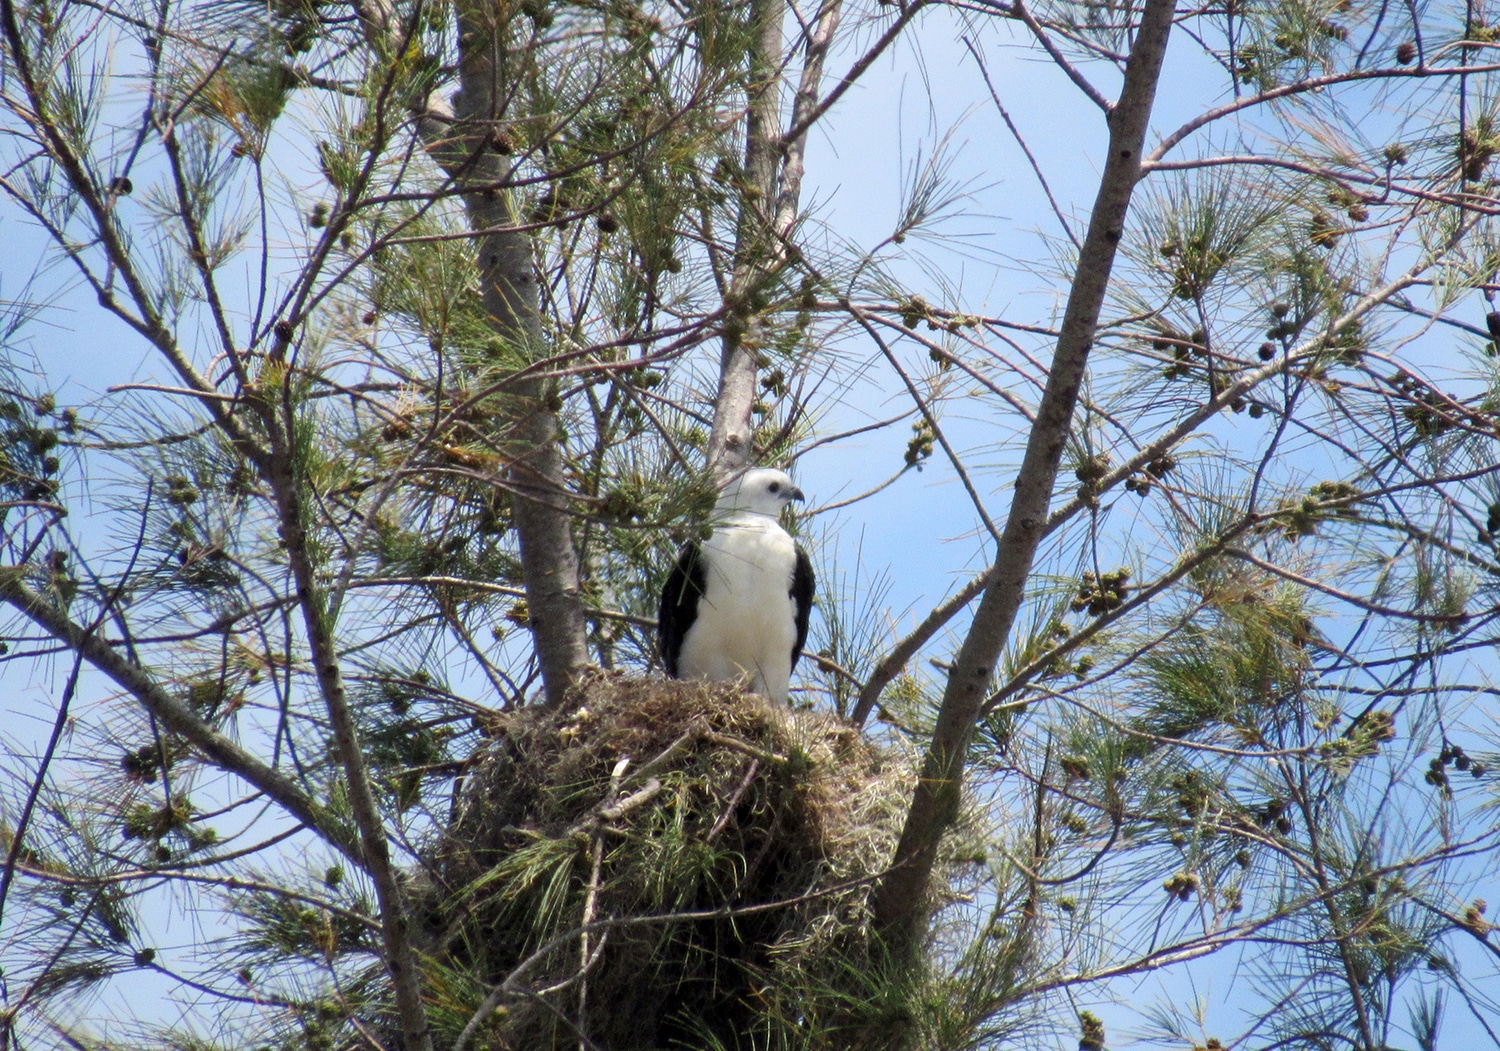
[[[684,678],[748,678],[754,693],[786,703],[796,643],[792,537],[764,514],[736,514],[704,543],[698,619],[682,640]]]

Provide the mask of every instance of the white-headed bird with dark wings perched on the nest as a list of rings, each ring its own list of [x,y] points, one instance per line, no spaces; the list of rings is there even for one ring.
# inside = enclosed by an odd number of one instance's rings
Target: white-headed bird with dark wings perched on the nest
[[[807,552],[777,522],[794,499],[802,490],[771,468],[723,487],[712,534],[682,547],[662,588],[657,643],[669,676],[746,682],[788,703],[814,586]]]

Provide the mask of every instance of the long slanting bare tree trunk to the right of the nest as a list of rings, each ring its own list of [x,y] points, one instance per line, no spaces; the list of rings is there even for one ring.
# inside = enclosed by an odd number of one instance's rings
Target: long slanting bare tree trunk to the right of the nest
[[[928,880],[942,837],[958,814],[969,741],[1024,598],[1036,544],[1047,525],[1058,466],[1072,429],[1078,387],[1125,229],[1125,214],[1142,175],[1142,145],[1173,13],[1174,0],[1146,0],[1142,12],[1125,67],[1125,84],[1107,117],[1110,145],[1104,175],[992,576],[950,672],[896,856],[872,897],[876,930],[897,951],[914,948],[926,928]]]

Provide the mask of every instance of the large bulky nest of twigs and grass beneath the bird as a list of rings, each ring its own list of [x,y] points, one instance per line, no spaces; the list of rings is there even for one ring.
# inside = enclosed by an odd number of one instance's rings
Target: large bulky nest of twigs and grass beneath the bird
[[[598,675],[501,717],[414,888],[440,1044],[495,985],[471,1048],[838,1027],[879,999],[866,903],[910,787],[843,723],[712,684]]]

